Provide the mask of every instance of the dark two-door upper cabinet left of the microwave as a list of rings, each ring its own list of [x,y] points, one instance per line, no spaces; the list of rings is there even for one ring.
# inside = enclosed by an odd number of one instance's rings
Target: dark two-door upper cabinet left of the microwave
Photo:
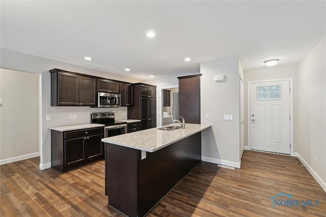
[[[51,106],[96,106],[96,78],[53,69]]]

